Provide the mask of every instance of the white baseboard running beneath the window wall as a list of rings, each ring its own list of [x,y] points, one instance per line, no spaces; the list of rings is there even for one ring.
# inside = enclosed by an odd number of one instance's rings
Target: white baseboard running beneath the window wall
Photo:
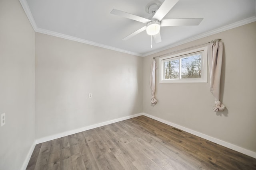
[[[251,151],[251,150],[244,149],[244,148],[242,148],[242,147],[238,147],[238,146],[233,145],[233,144],[231,144],[231,143],[222,141],[222,140],[220,140],[220,139],[216,139],[216,138],[214,138],[214,137],[210,137],[210,136],[205,135],[205,134],[203,134],[203,133],[194,131],[194,130],[192,130],[192,129],[188,129],[188,128],[186,128],[186,127],[177,125],[177,124],[175,124],[175,123],[166,121],[166,120],[164,120],[164,119],[160,119],[160,118],[158,118],[158,117],[149,115],[149,114],[147,114],[147,113],[142,113],[142,115],[144,115],[144,116],[146,116],[146,117],[150,117],[150,118],[152,118],[152,119],[154,119],[154,120],[157,120],[157,121],[160,121],[160,122],[162,122],[162,123],[165,123],[165,124],[170,125],[170,126],[172,126],[172,127],[176,127],[177,129],[180,129],[180,130],[182,130],[182,131],[186,131],[186,132],[188,132],[188,133],[191,133],[191,134],[193,134],[193,135],[196,135],[196,136],[201,137],[201,138],[203,138],[203,139],[206,139],[206,140],[208,140],[208,141],[217,143],[217,144],[222,145],[222,146],[224,146],[224,147],[227,147],[227,148],[229,148],[229,149],[236,150],[236,151],[238,151],[238,152],[240,152],[240,153],[243,153],[243,154],[246,154],[246,155],[251,156],[251,157],[253,157],[253,158],[256,158],[256,152],[253,152],[253,151]]]

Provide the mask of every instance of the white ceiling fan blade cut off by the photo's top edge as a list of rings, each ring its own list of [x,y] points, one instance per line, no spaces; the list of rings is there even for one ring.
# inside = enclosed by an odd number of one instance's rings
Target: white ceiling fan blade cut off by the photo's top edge
[[[154,14],[153,19],[161,21],[179,0],[165,0]]]

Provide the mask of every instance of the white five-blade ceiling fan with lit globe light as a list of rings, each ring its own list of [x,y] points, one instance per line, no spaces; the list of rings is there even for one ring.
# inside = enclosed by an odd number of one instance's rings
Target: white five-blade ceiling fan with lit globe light
[[[165,0],[162,5],[161,2],[155,0],[150,2],[146,6],[146,11],[149,14],[152,14],[152,19],[146,19],[134,14],[123,12],[120,10],[113,9],[110,13],[124,18],[129,18],[131,20],[139,21],[146,23],[146,25],[137,31],[131,33],[127,37],[124,37],[122,40],[127,40],[138,33],[146,30],[148,35],[154,36],[154,41],[160,43],[162,41],[160,35],[160,27],[170,27],[170,26],[184,26],[184,25],[199,25],[203,18],[182,18],[182,19],[165,19],[164,16],[174,7],[178,0]]]

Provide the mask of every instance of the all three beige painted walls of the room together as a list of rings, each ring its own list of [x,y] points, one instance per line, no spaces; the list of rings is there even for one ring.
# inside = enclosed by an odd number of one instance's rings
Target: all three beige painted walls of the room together
[[[6,113],[6,125],[0,127],[0,169],[20,169],[35,139],[142,111],[256,152],[255,30],[256,22],[142,58],[35,35],[19,1],[1,0],[0,114]],[[226,110],[212,111],[209,78],[159,84],[158,69],[158,104],[150,105],[152,57],[217,38],[224,42]]]

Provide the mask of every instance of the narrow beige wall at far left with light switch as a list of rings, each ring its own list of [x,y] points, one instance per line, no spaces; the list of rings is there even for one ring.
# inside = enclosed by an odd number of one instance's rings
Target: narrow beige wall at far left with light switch
[[[0,169],[18,170],[35,140],[35,32],[18,0],[0,1]]]

